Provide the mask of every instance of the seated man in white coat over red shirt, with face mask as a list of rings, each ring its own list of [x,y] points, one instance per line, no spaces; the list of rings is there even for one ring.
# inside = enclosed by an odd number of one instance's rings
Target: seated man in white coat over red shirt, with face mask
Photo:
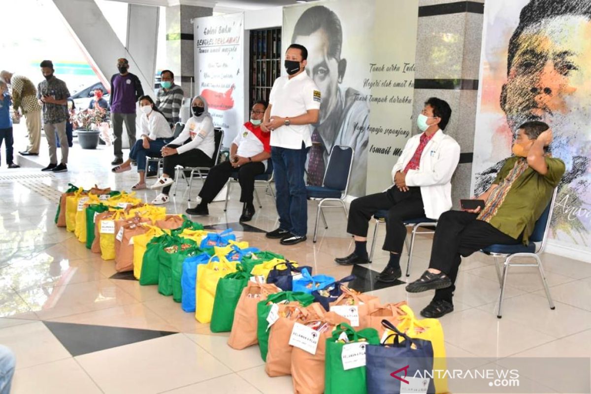
[[[452,109],[444,100],[431,97],[417,117],[423,132],[410,138],[392,168],[394,185],[382,193],[352,201],[347,232],[355,237],[355,250],[336,258],[340,265],[369,262],[367,233],[369,219],[379,210],[387,210],[386,238],[382,249],[390,252],[386,268],[377,279],[391,283],[402,275],[400,253],[407,236],[404,220],[428,217],[438,219],[452,208],[452,175],[460,161],[460,145],[443,130]]]

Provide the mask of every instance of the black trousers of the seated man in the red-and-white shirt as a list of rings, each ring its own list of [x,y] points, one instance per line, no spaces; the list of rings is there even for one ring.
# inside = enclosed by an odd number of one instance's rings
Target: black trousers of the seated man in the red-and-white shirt
[[[222,190],[223,185],[228,182],[232,172],[238,171],[238,181],[242,189],[240,193],[241,203],[252,204],[252,197],[255,190],[255,177],[265,172],[265,165],[261,162],[248,162],[238,168],[232,167],[230,161],[225,161],[212,167],[207,174],[205,183],[199,192],[199,197],[204,203],[211,203],[217,193]]]

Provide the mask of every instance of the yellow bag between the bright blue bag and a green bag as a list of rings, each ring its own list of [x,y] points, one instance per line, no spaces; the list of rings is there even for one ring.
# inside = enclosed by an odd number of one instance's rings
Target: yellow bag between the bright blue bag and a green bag
[[[199,323],[212,321],[217,282],[228,273],[236,272],[236,262],[230,263],[223,255],[217,256],[219,261],[212,261],[214,258],[215,255],[209,259],[209,263],[197,266],[195,318]]]

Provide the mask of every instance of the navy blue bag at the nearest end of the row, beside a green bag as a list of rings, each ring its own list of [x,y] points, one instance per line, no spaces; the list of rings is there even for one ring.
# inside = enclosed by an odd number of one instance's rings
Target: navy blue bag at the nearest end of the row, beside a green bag
[[[410,338],[388,320],[382,320],[382,325],[396,334],[391,334],[384,340],[385,343],[389,337],[394,336],[392,344],[365,347],[368,394],[400,393],[401,385],[427,387],[428,394],[435,394],[435,383],[426,375],[433,373],[431,342]],[[402,343],[400,337],[404,338]]]

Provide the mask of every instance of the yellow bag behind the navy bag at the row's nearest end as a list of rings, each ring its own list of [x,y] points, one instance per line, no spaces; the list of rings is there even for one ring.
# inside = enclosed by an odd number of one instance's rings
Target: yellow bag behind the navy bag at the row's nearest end
[[[399,317],[400,323],[396,326],[402,333],[407,334],[411,338],[427,340],[433,346],[433,369],[447,370],[445,344],[443,341],[443,328],[437,319],[421,319],[418,320],[414,316],[413,310],[408,305],[401,305],[400,309],[405,313]],[[382,338],[394,334],[387,330]],[[387,343],[392,343],[394,336],[388,339]],[[447,393],[447,377],[434,376],[435,392],[437,394]]]

